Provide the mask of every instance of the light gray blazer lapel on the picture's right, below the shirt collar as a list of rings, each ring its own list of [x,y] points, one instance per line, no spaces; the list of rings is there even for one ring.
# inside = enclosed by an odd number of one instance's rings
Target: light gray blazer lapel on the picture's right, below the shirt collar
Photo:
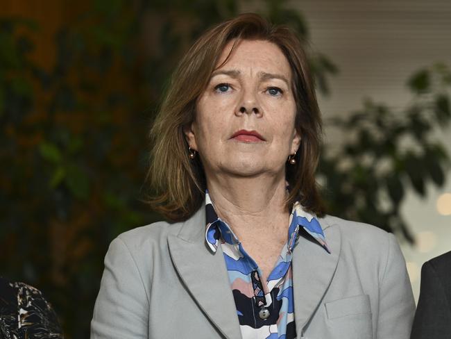
[[[298,338],[320,304],[329,287],[341,249],[341,233],[338,227],[318,219],[325,235],[330,254],[315,240],[301,236],[293,249],[294,317]]]

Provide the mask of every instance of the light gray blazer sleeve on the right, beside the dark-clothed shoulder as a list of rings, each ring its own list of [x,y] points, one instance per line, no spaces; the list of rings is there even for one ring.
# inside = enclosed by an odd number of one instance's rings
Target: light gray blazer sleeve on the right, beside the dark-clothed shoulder
[[[415,313],[406,263],[393,234],[389,233],[387,262],[380,284],[377,339],[408,339]]]

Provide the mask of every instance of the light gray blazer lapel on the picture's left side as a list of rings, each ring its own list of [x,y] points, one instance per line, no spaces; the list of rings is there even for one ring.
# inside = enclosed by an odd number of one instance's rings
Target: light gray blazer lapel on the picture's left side
[[[205,206],[169,235],[169,251],[180,278],[198,306],[226,338],[241,338],[221,246],[215,254],[205,244]]]

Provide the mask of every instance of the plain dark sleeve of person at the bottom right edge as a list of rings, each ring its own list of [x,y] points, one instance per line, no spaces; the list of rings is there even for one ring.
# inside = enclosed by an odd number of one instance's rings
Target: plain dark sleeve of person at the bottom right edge
[[[443,272],[450,274],[450,272]],[[421,287],[411,339],[450,338],[451,308],[439,274],[429,261],[421,269]]]

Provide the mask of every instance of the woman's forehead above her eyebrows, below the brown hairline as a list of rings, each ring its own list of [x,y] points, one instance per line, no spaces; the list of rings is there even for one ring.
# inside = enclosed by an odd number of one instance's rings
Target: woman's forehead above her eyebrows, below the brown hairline
[[[273,42],[266,40],[241,40],[229,56],[235,40],[224,47],[216,69],[246,69],[257,72],[278,73],[291,78],[291,68],[287,58]],[[229,57],[228,57],[229,56]],[[223,64],[224,60],[227,62]],[[218,67],[221,65],[221,67]]]

